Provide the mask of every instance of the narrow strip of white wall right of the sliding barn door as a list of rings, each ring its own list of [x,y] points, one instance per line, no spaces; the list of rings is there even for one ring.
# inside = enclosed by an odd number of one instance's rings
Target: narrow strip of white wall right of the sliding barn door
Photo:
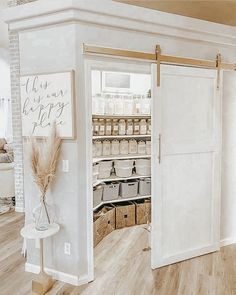
[[[236,73],[224,73],[221,239],[236,243]]]

